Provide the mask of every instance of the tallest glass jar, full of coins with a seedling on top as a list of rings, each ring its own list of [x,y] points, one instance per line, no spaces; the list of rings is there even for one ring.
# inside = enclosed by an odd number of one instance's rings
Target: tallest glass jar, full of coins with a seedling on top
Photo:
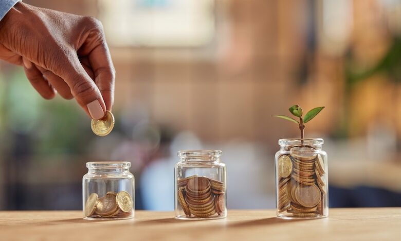
[[[323,139],[280,139],[279,145],[275,156],[277,216],[327,217],[329,183]]]

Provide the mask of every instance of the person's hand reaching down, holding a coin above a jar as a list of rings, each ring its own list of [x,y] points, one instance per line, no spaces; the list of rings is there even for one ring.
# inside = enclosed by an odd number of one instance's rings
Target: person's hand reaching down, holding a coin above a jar
[[[93,119],[112,109],[115,70],[94,17],[17,3],[0,21],[0,58],[23,65],[46,99],[75,97]]]

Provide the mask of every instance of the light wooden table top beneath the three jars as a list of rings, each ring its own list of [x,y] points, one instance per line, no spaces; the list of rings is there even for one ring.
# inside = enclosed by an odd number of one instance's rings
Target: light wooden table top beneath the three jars
[[[84,220],[80,211],[2,211],[0,240],[401,240],[401,208],[330,209],[283,220],[274,210],[229,210],[227,219],[178,220],[136,211],[131,220]]]

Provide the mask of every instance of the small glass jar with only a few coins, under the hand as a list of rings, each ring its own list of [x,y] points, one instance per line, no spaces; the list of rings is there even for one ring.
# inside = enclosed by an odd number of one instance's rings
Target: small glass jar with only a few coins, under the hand
[[[135,180],[130,162],[88,162],[82,178],[84,218],[134,217]]]

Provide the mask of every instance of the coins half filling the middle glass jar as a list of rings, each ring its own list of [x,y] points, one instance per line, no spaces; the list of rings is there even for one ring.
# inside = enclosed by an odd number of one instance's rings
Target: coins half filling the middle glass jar
[[[226,185],[204,176],[177,180],[178,202],[187,217],[221,216],[226,210]]]

